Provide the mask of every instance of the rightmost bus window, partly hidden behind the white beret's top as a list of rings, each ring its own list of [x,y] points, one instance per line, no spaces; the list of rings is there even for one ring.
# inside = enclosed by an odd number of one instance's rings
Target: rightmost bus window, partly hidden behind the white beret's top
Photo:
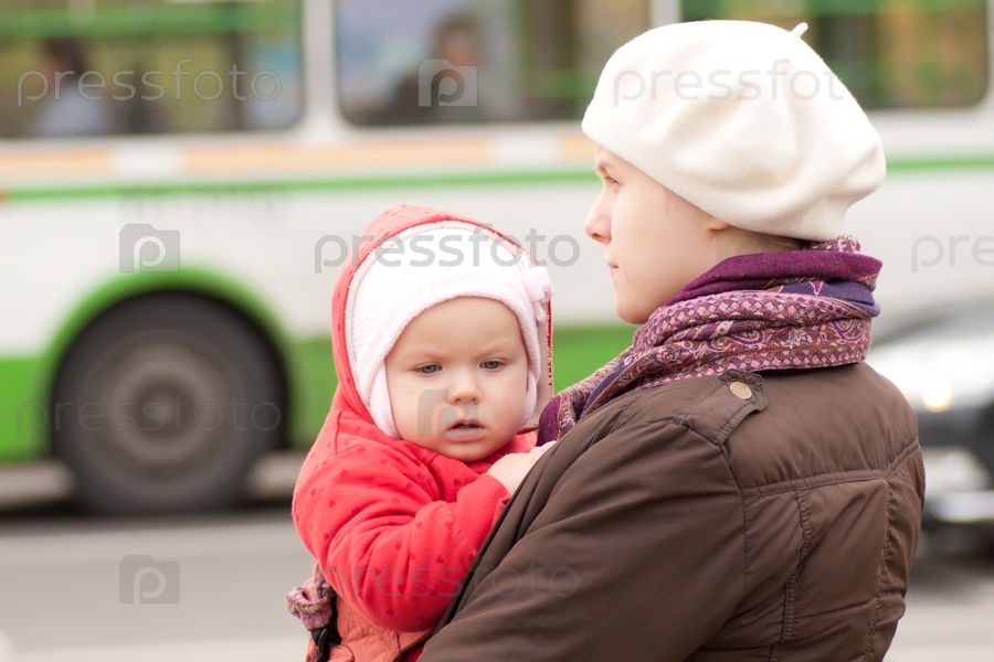
[[[987,0],[683,0],[683,19],[791,30],[868,109],[969,106],[987,92]]]

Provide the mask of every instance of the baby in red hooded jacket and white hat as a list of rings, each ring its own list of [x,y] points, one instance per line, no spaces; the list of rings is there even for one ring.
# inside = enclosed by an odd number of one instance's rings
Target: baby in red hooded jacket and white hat
[[[287,602],[311,661],[415,660],[549,448],[526,433],[552,392],[544,268],[430,207],[361,238],[332,296],[339,386],[294,491],[316,567]]]

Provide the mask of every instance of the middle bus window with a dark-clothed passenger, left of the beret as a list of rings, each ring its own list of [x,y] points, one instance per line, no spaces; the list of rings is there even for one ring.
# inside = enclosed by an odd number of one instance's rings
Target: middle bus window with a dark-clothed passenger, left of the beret
[[[648,0],[339,0],[339,106],[357,125],[582,116]]]

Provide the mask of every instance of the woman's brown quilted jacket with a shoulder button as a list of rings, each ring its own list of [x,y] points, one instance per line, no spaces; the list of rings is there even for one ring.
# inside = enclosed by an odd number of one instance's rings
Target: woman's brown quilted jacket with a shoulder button
[[[628,393],[536,465],[421,662],[881,660],[923,491],[865,364]]]

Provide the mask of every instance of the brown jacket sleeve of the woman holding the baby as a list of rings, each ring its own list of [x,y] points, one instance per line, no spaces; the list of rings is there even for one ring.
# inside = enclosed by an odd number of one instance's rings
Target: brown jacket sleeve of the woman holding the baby
[[[744,591],[741,494],[720,445],[637,416],[539,461],[504,520],[527,528],[498,527],[421,662],[680,661],[720,629]]]

